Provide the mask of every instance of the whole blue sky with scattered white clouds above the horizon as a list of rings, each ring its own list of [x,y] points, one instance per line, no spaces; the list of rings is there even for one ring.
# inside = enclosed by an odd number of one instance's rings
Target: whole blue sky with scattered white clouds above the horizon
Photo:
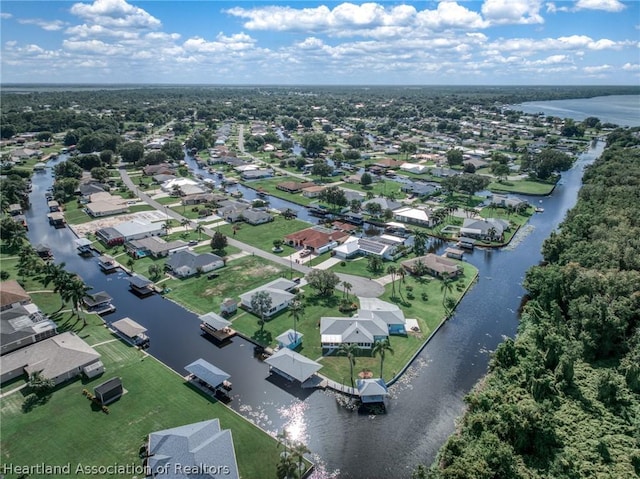
[[[639,85],[640,2],[6,1],[3,83]]]

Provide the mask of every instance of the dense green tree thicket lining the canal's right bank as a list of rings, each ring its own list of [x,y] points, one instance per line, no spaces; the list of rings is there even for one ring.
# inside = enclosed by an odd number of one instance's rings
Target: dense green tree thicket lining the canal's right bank
[[[616,130],[525,279],[518,336],[418,477],[640,475],[640,131]]]

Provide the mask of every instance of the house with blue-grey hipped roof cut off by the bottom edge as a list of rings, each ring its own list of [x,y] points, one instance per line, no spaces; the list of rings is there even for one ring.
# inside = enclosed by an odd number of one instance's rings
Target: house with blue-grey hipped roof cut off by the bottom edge
[[[217,418],[152,432],[146,460],[152,477],[240,477],[231,430]]]

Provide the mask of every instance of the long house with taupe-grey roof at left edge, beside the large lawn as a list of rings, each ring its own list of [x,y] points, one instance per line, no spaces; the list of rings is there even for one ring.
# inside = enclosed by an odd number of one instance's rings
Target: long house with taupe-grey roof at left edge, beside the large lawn
[[[92,367],[99,362],[95,349],[75,333],[64,332],[0,356],[0,382],[39,372],[57,386],[86,373],[87,368],[99,374],[100,368]]]

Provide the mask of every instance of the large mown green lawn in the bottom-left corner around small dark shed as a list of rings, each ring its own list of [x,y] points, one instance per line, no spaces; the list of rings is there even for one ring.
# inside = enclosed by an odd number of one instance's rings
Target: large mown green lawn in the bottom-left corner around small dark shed
[[[92,324],[79,334],[105,332]],[[240,475],[274,477],[279,450],[275,439],[221,403],[187,385],[150,356],[116,340],[96,346],[106,373],[90,381],[56,388],[49,401],[22,412],[22,392],[3,398],[2,462],[13,464],[140,465],[138,449],[153,431],[219,418],[233,434]],[[92,406],[82,389],[121,377],[126,394],[109,405],[109,414]],[[31,438],[28,440],[27,438]],[[41,447],[46,444],[46,447]]]

